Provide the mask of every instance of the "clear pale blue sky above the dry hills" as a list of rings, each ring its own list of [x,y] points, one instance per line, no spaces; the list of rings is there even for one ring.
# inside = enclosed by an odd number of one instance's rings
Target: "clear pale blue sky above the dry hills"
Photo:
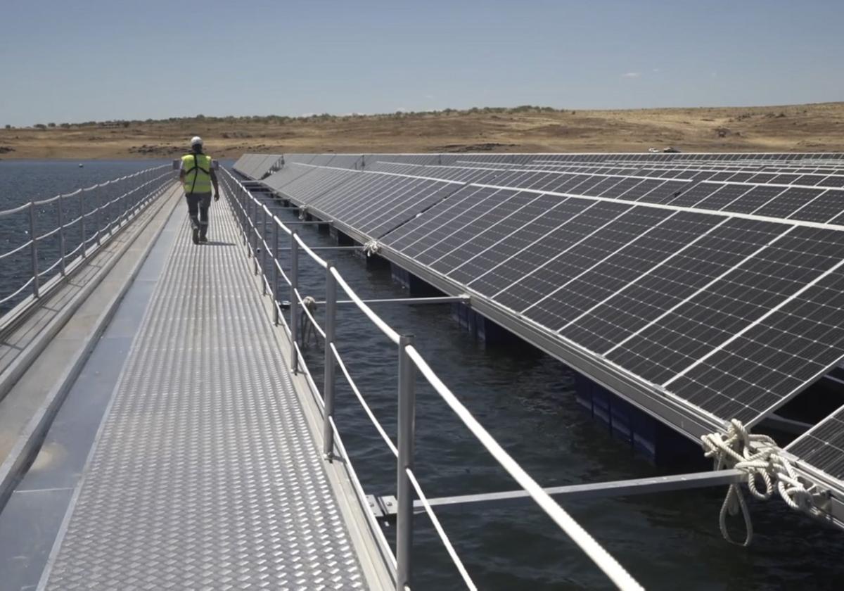
[[[0,0],[0,125],[844,100],[841,0]]]

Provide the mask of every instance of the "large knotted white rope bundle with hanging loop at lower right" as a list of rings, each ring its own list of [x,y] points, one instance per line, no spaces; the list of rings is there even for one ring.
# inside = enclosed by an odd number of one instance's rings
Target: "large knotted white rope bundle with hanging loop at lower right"
[[[814,506],[814,485],[809,489],[799,480],[791,462],[782,453],[782,447],[767,435],[750,434],[744,424],[738,420],[730,420],[726,433],[710,433],[701,436],[706,458],[712,458],[715,469],[738,469],[747,474],[747,487],[750,494],[760,501],[767,501],[776,491],[788,507],[820,515],[820,510]],[[760,484],[764,485],[760,490]],[[727,529],[727,517],[735,516],[738,512],[744,518],[744,542],[737,542]],[[753,523],[744,493],[738,483],[729,486],[727,496],[721,506],[718,516],[721,534],[731,544],[748,546],[753,539]]]

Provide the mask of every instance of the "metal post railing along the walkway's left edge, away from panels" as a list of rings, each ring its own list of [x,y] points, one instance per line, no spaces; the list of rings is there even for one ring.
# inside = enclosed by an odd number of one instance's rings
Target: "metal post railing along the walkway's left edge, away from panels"
[[[77,268],[82,259],[111,240],[116,230],[164,192],[173,179],[170,165],[154,166],[92,187],[0,211],[3,235],[9,236],[7,243],[14,240],[15,234],[27,236],[26,240],[12,244],[6,252],[0,252],[0,266],[7,269],[7,277],[13,277],[3,281],[0,306],[24,301],[14,313],[14,317],[19,317],[59,285],[60,279]],[[45,247],[49,239],[53,239],[52,244]],[[29,258],[28,263],[26,258]],[[24,268],[24,273],[14,273],[15,269]],[[21,275],[25,279],[17,284],[15,280]],[[25,301],[28,291],[30,301]]]

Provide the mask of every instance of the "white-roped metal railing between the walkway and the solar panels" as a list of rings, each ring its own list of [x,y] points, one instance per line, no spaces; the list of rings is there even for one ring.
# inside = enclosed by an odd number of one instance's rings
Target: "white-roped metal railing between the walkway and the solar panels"
[[[384,440],[387,447],[397,458],[397,528],[396,528],[396,556],[393,557],[387,540],[384,538],[381,528],[376,522],[374,515],[368,508],[365,499],[365,492],[360,485],[360,480],[354,473],[354,467],[350,462],[344,462],[344,467],[349,470],[349,477],[357,492],[360,506],[364,508],[371,530],[381,545],[381,553],[388,556],[395,568],[396,588],[399,591],[408,589],[410,585],[412,564],[413,564],[413,522],[414,522],[414,492],[425,507],[437,534],[445,545],[457,571],[463,577],[467,588],[477,587],[463,566],[463,561],[457,556],[451,541],[448,539],[440,520],[428,502],[425,491],[419,485],[414,474],[414,418],[415,418],[415,391],[414,384],[417,372],[430,383],[455,415],[463,421],[463,424],[479,440],[486,450],[496,461],[511,474],[527,494],[533,498],[539,507],[542,507],[549,517],[560,526],[569,537],[586,552],[592,561],[607,575],[607,577],[621,589],[641,589],[639,583],[630,577],[630,574],[621,567],[609,553],[598,544],[585,529],[576,523],[571,516],[560,507],[560,505],[546,493],[533,478],[522,469],[517,462],[511,458],[509,453],[495,441],[489,431],[484,429],[478,420],[468,409],[457,399],[452,391],[436,376],[428,363],[414,347],[414,339],[410,335],[402,335],[393,330],[381,317],[372,311],[364,301],[349,287],[337,268],[332,263],[322,259],[308,247],[300,236],[275,216],[268,207],[252,196],[246,187],[239,182],[230,171],[225,170],[221,175],[226,192],[230,198],[230,206],[235,216],[241,223],[241,232],[247,253],[254,261],[254,273],[261,275],[262,290],[264,295],[273,297],[273,320],[276,325],[281,325],[287,335],[292,351],[291,369],[294,372],[304,373],[311,385],[311,393],[317,404],[322,407],[323,412],[323,453],[328,461],[334,458],[334,448],[343,458],[348,458],[343,442],[340,438],[338,426],[334,421],[334,392],[336,386],[336,369],[339,367],[346,381],[349,383],[354,395],[360,401],[366,415],[369,416],[373,425]],[[286,235],[289,240],[289,271],[285,272],[279,262],[279,231]],[[315,263],[325,269],[326,274],[326,301],[325,301],[325,328],[320,328],[316,319],[312,316],[311,310],[299,291],[299,256],[300,252],[306,253]],[[261,261],[258,262],[260,256]],[[272,272],[267,274],[268,257],[272,258]],[[284,312],[279,301],[279,278],[289,286],[290,306],[289,323],[284,318]],[[363,312],[370,319],[381,333],[387,336],[392,344],[397,346],[398,354],[398,445],[393,443],[390,436],[383,429],[381,424],[372,413],[366,403],[360,389],[355,385],[349,375],[343,359],[341,358],[334,342],[334,328],[336,322],[336,308],[338,304],[337,288],[344,290],[346,295],[360,312]],[[305,362],[302,360],[299,348],[301,315],[312,323],[317,333],[325,341],[325,368],[322,383],[322,397],[319,395],[320,388],[317,387],[308,371]]]

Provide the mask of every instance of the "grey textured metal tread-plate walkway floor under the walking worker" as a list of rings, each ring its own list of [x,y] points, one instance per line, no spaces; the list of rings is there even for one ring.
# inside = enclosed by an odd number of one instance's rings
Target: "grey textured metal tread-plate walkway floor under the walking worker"
[[[210,244],[173,243],[39,588],[367,587],[235,220],[212,215]]]

